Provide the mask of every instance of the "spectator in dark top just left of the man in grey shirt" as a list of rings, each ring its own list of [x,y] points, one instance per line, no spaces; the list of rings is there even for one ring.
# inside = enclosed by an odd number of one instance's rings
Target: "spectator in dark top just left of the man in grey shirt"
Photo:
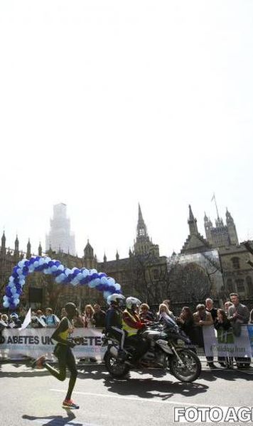
[[[220,334],[220,339],[218,342],[230,343],[228,341],[229,333],[232,336],[232,327],[230,320],[227,318],[225,310],[218,309],[217,310],[217,318],[215,318],[215,329],[217,330],[218,337]],[[229,332],[230,330],[230,332]],[[220,366],[232,368],[233,359],[231,356],[218,356],[218,362]]]

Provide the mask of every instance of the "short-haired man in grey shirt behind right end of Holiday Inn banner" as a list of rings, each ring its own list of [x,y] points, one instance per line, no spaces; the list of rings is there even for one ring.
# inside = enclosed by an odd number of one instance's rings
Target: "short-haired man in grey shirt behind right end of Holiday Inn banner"
[[[242,305],[239,302],[239,295],[237,293],[230,293],[230,300],[232,306],[228,308],[228,318],[231,321],[233,333],[239,337],[242,332],[242,324],[248,324],[249,322],[249,310],[247,306]],[[247,368],[251,362],[248,357],[236,357],[237,368]]]

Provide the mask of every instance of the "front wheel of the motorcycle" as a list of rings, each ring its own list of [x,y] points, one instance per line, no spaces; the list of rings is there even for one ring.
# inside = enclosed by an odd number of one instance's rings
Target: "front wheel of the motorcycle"
[[[182,349],[178,351],[178,356],[173,356],[170,359],[171,374],[182,382],[193,382],[201,373],[201,363],[198,356],[190,349]]]

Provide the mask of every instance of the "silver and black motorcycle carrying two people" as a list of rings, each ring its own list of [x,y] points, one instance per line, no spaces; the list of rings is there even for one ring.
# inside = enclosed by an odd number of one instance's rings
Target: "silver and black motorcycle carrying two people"
[[[149,349],[139,359],[138,368],[160,368],[170,372],[179,381],[193,382],[201,372],[201,363],[194,349],[189,349],[190,339],[179,329],[173,320],[147,325],[139,330],[139,337],[149,342]],[[104,363],[114,378],[122,378],[134,368],[131,355],[134,346],[124,344],[124,354],[119,349],[119,341],[110,333],[105,333],[102,346],[107,345]],[[130,364],[130,366],[129,366]]]

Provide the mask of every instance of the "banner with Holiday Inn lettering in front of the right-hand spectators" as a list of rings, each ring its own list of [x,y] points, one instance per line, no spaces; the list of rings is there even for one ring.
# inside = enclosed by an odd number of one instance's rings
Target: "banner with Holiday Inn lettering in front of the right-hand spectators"
[[[205,356],[252,357],[252,325],[242,325],[236,337],[232,329],[216,331],[212,326],[203,327]]]

